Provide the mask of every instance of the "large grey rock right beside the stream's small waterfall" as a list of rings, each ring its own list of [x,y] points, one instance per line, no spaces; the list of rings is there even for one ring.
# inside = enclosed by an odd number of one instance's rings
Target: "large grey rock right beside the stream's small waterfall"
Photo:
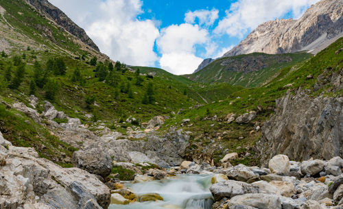
[[[252,186],[245,182],[237,182],[233,180],[228,180],[225,182],[219,182],[213,184],[210,187],[210,191],[215,199],[215,201],[220,201],[220,199],[231,198],[237,195],[244,195],[247,193],[259,193],[259,188],[257,186]]]

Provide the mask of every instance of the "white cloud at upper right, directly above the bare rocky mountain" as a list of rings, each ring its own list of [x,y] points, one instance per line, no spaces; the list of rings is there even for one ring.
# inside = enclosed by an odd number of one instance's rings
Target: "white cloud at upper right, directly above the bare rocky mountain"
[[[246,32],[265,21],[288,13],[298,18],[309,5],[317,1],[319,0],[239,0],[226,10],[226,17],[218,23],[214,32],[243,38]]]

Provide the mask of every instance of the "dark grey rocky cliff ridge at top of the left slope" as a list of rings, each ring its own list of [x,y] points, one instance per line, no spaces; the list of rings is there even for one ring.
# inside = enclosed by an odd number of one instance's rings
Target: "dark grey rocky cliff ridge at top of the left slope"
[[[64,14],[60,9],[49,3],[47,0],[25,0],[29,5],[32,5],[38,12],[41,12],[49,19],[54,20],[58,25],[62,26],[67,32],[73,34],[75,37],[80,38],[89,47],[92,47],[96,51],[99,48],[91,38],[88,37],[84,29],[76,25],[69,17]]]

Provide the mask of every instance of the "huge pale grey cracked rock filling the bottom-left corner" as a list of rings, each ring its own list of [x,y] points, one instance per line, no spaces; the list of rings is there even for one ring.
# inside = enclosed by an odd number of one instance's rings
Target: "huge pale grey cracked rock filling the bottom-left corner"
[[[64,169],[0,134],[1,208],[107,208],[110,189],[82,169]]]

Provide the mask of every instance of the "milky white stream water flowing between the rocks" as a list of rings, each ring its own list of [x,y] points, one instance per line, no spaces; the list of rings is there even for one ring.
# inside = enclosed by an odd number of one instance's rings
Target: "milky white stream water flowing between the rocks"
[[[164,201],[110,205],[109,209],[211,209],[211,175],[178,175],[167,180],[128,185],[137,195],[158,193]]]

